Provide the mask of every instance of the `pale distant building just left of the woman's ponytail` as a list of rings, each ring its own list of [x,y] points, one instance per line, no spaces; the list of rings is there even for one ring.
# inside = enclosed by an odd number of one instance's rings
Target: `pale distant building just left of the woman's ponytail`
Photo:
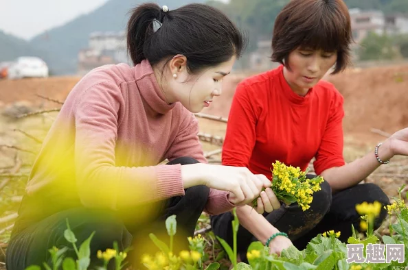
[[[124,32],[94,32],[89,47],[78,53],[78,75],[85,75],[104,64],[130,63]]]

